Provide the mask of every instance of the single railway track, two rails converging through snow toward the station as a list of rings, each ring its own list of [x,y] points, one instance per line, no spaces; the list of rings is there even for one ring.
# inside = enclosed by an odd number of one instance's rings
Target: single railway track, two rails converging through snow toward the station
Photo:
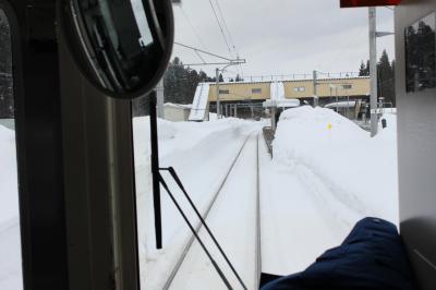
[[[250,143],[250,146],[247,146],[249,143]],[[253,146],[253,143],[255,143],[254,146]],[[247,150],[251,149],[251,147],[254,147],[255,154],[253,156],[255,156],[255,161],[254,161],[255,170],[253,170],[253,171],[255,172],[255,176],[256,176],[255,177],[256,181],[254,184],[254,192],[253,192],[253,196],[252,196],[254,200],[253,213],[255,215],[255,225],[254,225],[255,229],[254,229],[254,237],[253,237],[254,251],[255,251],[255,256],[253,257],[254,273],[251,277],[244,277],[246,280],[249,280],[249,279],[254,279],[254,280],[253,281],[243,281],[243,278],[238,274],[238,270],[240,270],[240,269],[233,268],[233,265],[230,263],[230,262],[234,263],[233,258],[230,256],[230,258],[228,259],[228,262],[229,262],[228,265],[226,265],[226,263],[221,263],[221,264],[225,265],[225,267],[228,267],[230,265],[229,267],[231,267],[233,269],[233,273],[227,271],[228,276],[229,275],[233,276],[232,277],[233,283],[231,283],[231,286],[229,286],[230,283],[228,283],[227,286],[221,283],[222,289],[226,289],[226,288],[227,289],[252,289],[252,288],[258,289],[258,285],[259,285],[261,271],[262,271],[262,254],[261,254],[262,246],[261,246],[261,204],[259,204],[261,196],[259,196],[259,160],[258,160],[259,159],[259,157],[258,157],[259,145],[258,144],[259,144],[259,135],[258,134],[255,136],[253,134],[251,134],[245,138],[245,141],[243,142],[241,148],[239,149],[235,158],[233,159],[227,174],[225,176],[222,182],[220,183],[220,186],[218,188],[217,192],[214,194],[206,210],[202,215],[202,217],[206,221],[206,223],[209,223],[209,214],[214,209],[216,212],[218,212],[218,208],[215,208],[215,207],[216,207],[217,201],[219,200],[223,189],[226,186],[229,186],[229,184],[228,184],[229,178],[232,177],[232,174],[233,176],[235,174],[234,170],[235,170],[237,166],[241,167],[241,164],[239,164],[239,162],[243,162],[244,160],[246,161],[247,156],[253,155],[252,153],[250,153]],[[247,147],[250,147],[250,148],[247,148]],[[244,160],[241,160],[241,159],[244,159]],[[226,190],[228,191],[229,189],[226,189]],[[220,202],[221,202],[221,206],[222,206],[222,201],[220,201]],[[221,214],[226,215],[226,213],[221,213]],[[201,231],[204,231],[204,230],[205,230],[204,226],[201,222],[198,222],[198,225],[195,227],[196,234],[199,235]],[[209,229],[206,228],[206,230],[209,230]],[[211,232],[215,234],[214,228],[211,229]],[[195,244],[194,243],[195,240],[196,240],[195,235],[192,234],[191,238],[189,239],[187,243],[185,244],[178,262],[175,263],[174,267],[172,268],[170,275],[168,276],[162,289],[181,289],[181,288],[178,288],[174,286],[174,280],[177,279],[178,275],[180,274],[182,266],[184,265],[186,267],[186,265],[185,265],[186,257],[190,254],[190,252],[192,251],[193,245]],[[219,239],[218,239],[218,242],[220,242]],[[210,244],[208,244],[207,246],[214,247],[214,245],[210,245]],[[226,251],[223,251],[223,252],[226,252]],[[203,252],[202,254],[204,254],[205,259],[207,259],[205,253]],[[226,255],[225,258],[227,258],[227,254],[228,253],[225,254]],[[219,255],[219,253],[217,255]],[[214,269],[210,268],[210,271],[214,271]],[[237,278],[237,280],[234,279],[234,277]],[[229,277],[226,277],[226,278],[229,278]],[[179,278],[179,280],[180,280],[180,278]],[[229,279],[229,281],[231,279]],[[246,282],[250,283],[250,287],[246,287]],[[194,289],[194,288],[195,287],[193,287],[191,289]]]

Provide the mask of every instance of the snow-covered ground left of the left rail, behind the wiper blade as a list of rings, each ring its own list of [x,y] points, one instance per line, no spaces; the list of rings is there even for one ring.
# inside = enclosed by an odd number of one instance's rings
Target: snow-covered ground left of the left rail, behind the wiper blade
[[[161,166],[172,166],[178,171],[187,192],[203,213],[247,135],[259,130],[263,123],[233,118],[203,123],[172,123],[159,120],[159,146]],[[149,172],[148,118],[134,120],[136,189],[138,205],[138,235],[142,286],[144,289],[161,289],[175,266],[190,231],[177,208],[161,189],[164,250],[155,246],[153,192]],[[165,174],[177,200],[193,220],[189,207],[177,184]],[[145,275],[146,273],[146,275]]]

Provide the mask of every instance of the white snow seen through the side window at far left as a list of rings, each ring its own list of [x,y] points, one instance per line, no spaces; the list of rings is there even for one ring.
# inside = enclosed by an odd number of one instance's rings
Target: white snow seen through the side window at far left
[[[15,133],[0,125],[0,289],[22,289]]]

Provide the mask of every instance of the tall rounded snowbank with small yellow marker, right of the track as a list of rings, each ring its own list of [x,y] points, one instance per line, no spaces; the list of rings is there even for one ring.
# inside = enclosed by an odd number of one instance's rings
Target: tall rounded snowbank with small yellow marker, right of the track
[[[305,178],[323,183],[331,196],[318,197],[344,228],[364,216],[398,223],[396,116],[384,118],[388,128],[371,138],[332,110],[287,110],[278,123],[274,161],[299,167]]]

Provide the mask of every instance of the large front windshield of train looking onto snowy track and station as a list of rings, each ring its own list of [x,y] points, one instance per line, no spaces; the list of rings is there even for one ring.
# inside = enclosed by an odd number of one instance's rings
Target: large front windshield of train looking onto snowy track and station
[[[398,222],[393,38],[379,43],[373,138],[368,10],[337,2],[173,7],[156,88],[162,249],[147,99],[133,102],[143,289],[258,289],[262,273],[305,269],[363,217]],[[392,31],[392,11],[377,12]]]

